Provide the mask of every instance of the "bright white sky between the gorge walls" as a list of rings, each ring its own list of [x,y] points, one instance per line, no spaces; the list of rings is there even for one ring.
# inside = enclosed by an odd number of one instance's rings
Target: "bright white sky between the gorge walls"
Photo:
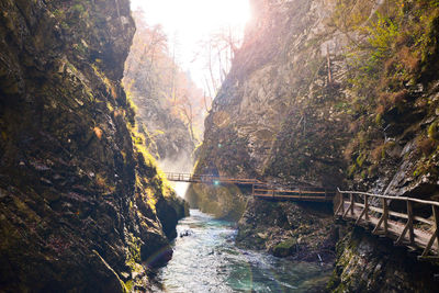
[[[170,46],[176,44],[178,64],[191,74],[200,88],[204,87],[205,60],[201,41],[221,27],[234,27],[243,35],[250,19],[249,0],[131,0],[132,10],[142,8],[146,23],[161,24]]]

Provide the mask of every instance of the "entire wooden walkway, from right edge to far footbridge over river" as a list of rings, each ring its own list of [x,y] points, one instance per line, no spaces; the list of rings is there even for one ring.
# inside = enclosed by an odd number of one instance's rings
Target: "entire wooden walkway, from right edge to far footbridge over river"
[[[169,181],[177,182],[251,185],[251,195],[261,200],[334,202],[337,207],[336,217],[371,229],[372,234],[394,239],[396,246],[406,246],[413,250],[421,249],[419,259],[439,260],[439,202],[436,201],[357,191],[284,188],[257,179],[212,174],[166,173],[166,177]]]

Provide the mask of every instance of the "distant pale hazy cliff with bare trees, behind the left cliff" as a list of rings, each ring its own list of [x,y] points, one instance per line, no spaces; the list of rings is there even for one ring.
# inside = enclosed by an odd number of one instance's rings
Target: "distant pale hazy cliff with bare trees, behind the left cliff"
[[[137,106],[138,132],[167,171],[189,172],[201,131],[202,92],[176,64],[161,26],[146,23],[142,10],[133,15],[137,31],[123,82]]]

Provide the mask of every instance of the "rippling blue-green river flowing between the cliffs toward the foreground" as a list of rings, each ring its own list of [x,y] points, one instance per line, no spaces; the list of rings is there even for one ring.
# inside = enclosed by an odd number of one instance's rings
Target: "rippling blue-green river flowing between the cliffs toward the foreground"
[[[172,260],[157,275],[162,289],[156,291],[320,292],[330,274],[328,267],[240,249],[235,246],[233,223],[198,210],[180,221],[177,232]]]

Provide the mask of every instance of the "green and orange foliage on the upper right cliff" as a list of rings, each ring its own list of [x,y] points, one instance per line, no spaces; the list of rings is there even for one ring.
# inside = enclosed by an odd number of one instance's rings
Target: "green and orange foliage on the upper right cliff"
[[[349,176],[365,169],[370,174],[394,147],[386,137],[389,115],[404,113],[415,99],[410,87],[419,82],[428,56],[434,55],[439,15],[438,1],[385,0],[376,11],[370,8],[370,15],[363,13],[365,18],[356,14],[358,4],[354,0],[339,1],[333,20],[344,32],[359,32],[346,53],[348,82],[354,97],[351,131],[356,133],[345,150],[346,159],[352,161]],[[344,21],[348,15],[350,20]],[[424,154],[435,149],[431,139],[418,142]]]

